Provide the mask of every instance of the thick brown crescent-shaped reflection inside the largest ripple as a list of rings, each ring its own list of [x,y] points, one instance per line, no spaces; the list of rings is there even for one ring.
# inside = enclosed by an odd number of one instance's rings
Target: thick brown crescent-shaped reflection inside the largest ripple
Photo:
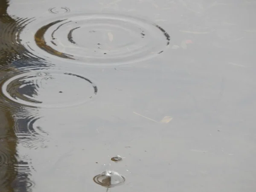
[[[52,47],[49,47],[44,39],[44,33],[47,31],[47,29],[49,29],[51,26],[53,26],[56,23],[59,23],[61,21],[64,21],[64,20],[57,20],[55,22],[49,23],[48,25],[43,26],[40,29],[38,29],[38,31],[35,33],[35,42],[38,45],[38,47],[40,47],[41,49],[47,51],[48,53],[50,53],[52,55],[58,55],[61,58],[73,59],[73,58],[65,55],[64,53],[58,52],[55,49],[52,49]]]

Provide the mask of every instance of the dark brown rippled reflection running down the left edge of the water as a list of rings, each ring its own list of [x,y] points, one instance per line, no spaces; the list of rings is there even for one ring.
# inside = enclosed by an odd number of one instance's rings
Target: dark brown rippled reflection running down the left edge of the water
[[[22,24],[26,22],[26,19],[12,19],[6,12],[8,6],[9,1],[0,1],[0,80],[17,73],[15,68],[23,67],[29,59],[24,47],[15,39],[16,32],[22,30]],[[32,66],[35,66],[36,63],[36,59],[30,62]],[[31,91],[33,91],[33,88]],[[22,118],[23,120],[20,121],[15,118],[16,114],[22,111],[20,106],[6,102],[3,95],[0,95],[1,192],[29,192],[35,186],[35,183],[30,180],[31,163],[17,151],[17,145],[20,139],[23,139],[20,138],[20,131],[17,129],[19,127],[23,128],[23,132],[26,134],[31,132],[28,129],[24,130],[28,126],[28,119],[25,118],[26,120],[24,120]]]

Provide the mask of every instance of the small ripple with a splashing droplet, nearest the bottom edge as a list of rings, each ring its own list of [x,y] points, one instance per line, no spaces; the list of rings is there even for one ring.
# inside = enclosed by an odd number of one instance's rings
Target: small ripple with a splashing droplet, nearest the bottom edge
[[[93,180],[95,183],[97,183],[101,186],[111,188],[111,187],[118,186],[118,185],[121,185],[122,183],[124,183],[125,177],[120,175],[117,172],[106,171],[106,172],[102,172],[101,174],[93,177]]]

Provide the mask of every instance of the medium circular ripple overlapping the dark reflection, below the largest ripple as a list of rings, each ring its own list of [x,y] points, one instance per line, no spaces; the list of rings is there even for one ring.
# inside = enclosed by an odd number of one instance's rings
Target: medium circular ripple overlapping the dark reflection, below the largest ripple
[[[96,95],[89,79],[57,70],[35,70],[13,76],[2,84],[2,94],[29,107],[58,108],[80,105]]]

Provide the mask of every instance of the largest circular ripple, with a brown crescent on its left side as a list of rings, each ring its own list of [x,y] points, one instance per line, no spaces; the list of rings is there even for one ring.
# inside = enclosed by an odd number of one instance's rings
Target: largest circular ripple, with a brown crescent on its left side
[[[89,65],[142,61],[163,52],[170,41],[169,34],[155,23],[115,14],[38,19],[27,28],[21,39],[30,42],[25,46],[33,54]]]

